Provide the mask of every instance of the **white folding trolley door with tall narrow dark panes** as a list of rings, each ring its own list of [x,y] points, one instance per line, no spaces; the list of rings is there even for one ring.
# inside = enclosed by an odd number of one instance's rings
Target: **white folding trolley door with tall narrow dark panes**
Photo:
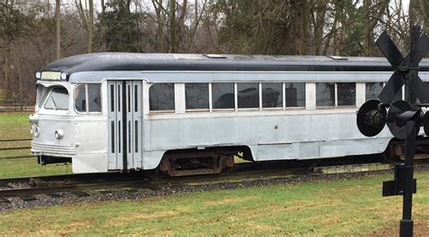
[[[109,170],[142,164],[141,81],[108,81]]]

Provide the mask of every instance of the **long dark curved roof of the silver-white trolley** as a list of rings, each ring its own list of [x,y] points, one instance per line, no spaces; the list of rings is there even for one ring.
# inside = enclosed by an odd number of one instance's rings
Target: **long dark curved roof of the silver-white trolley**
[[[97,52],[52,62],[42,71],[393,71],[385,58]],[[429,60],[421,63],[429,71]]]

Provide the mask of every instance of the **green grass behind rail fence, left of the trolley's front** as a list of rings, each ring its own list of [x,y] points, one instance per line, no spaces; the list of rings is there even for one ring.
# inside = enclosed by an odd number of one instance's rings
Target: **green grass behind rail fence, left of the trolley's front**
[[[0,113],[0,139],[31,138],[28,112]],[[30,147],[30,141],[0,142],[0,147]],[[0,157],[29,155],[30,149],[0,150]],[[0,178],[17,176],[60,175],[71,166],[40,166],[35,157],[0,159]]]

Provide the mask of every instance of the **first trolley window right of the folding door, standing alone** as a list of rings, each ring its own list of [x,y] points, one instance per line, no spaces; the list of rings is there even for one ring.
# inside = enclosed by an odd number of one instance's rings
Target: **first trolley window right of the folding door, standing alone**
[[[175,109],[175,85],[173,83],[154,84],[149,89],[150,110]]]

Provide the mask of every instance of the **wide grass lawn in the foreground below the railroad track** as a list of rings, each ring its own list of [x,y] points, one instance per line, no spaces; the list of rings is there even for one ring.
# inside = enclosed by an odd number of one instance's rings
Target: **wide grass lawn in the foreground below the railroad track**
[[[429,231],[429,172],[418,172],[415,232]],[[394,234],[402,198],[382,198],[392,175],[39,207],[2,213],[0,235]]]

